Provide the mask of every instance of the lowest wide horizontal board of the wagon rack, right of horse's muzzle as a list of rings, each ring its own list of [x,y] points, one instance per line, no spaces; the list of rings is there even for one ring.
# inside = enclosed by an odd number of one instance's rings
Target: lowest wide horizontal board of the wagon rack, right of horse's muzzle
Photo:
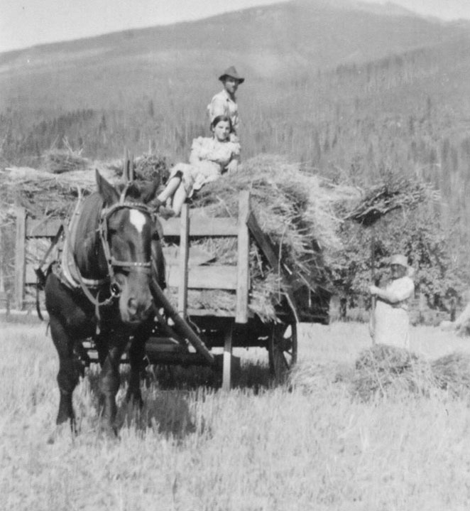
[[[167,267],[167,284],[180,286],[180,271],[177,267]],[[211,265],[192,267],[188,271],[188,289],[236,289],[236,267]]]

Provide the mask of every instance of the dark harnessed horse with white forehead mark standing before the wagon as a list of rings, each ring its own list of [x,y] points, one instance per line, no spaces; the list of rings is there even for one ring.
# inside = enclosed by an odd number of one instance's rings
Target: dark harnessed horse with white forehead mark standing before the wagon
[[[57,426],[70,421],[76,431],[72,393],[84,374],[82,340],[93,338],[101,365],[101,427],[116,435],[121,356],[129,352],[126,397],[141,404],[141,365],[155,317],[151,279],[164,288],[165,269],[158,221],[148,206],[156,185],[114,188],[98,171],[96,179],[97,192],[75,208],[60,264],[48,269],[45,307],[60,363]]]

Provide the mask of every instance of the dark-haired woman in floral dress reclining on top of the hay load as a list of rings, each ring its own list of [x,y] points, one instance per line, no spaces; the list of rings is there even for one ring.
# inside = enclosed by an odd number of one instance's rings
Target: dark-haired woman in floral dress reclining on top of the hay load
[[[202,185],[216,181],[225,171],[236,171],[240,144],[230,141],[231,120],[219,115],[211,123],[212,137],[192,141],[190,163],[177,163],[171,170],[165,190],[158,195],[157,207],[166,203],[164,215],[180,215],[183,203]]]

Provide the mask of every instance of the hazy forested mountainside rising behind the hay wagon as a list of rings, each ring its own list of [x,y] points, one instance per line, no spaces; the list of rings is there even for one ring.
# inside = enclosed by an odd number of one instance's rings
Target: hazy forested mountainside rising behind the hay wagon
[[[358,185],[390,172],[425,178],[442,191],[454,244],[466,246],[469,25],[385,7],[293,1],[4,53],[1,163],[38,166],[65,139],[89,158],[127,146],[185,160],[231,64],[246,76],[244,158],[287,154]]]

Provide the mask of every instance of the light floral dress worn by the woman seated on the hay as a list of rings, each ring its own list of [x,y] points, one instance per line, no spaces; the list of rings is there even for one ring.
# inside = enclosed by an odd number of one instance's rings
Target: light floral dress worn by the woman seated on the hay
[[[187,196],[191,197],[202,185],[222,176],[226,166],[239,156],[240,144],[200,136],[192,141],[190,163],[177,163],[170,177],[181,171]]]

